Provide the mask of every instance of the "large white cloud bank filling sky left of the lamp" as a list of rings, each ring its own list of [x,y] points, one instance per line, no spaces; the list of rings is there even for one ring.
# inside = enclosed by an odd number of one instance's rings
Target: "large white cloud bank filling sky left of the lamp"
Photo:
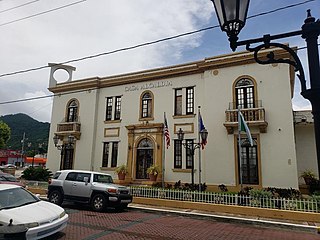
[[[0,24],[74,1],[39,1],[0,15]],[[2,9],[21,4],[5,1]],[[45,66],[188,32],[207,22],[210,1],[95,0],[0,27],[1,73]],[[185,48],[201,45],[201,35],[71,63],[74,79],[137,71],[182,61]],[[50,94],[49,69],[0,79],[0,102]],[[51,99],[1,104],[1,115],[23,112],[50,121]]]

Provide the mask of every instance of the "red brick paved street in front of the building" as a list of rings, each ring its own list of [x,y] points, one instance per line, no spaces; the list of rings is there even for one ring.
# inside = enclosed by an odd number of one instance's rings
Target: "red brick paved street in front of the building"
[[[279,225],[265,226],[250,221],[241,224],[238,220],[232,222],[231,217],[231,222],[226,222],[227,216],[187,209],[175,212],[132,204],[122,212],[108,209],[97,213],[83,205],[65,204],[64,207],[69,222],[63,232],[52,238],[55,240],[320,240],[320,234],[312,229],[293,226],[283,229]],[[221,218],[217,220],[216,216]]]

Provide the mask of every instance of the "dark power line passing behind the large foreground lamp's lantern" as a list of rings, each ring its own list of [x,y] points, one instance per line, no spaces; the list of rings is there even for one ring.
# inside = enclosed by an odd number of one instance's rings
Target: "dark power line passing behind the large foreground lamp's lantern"
[[[316,1],[316,0],[306,0],[306,1],[303,1],[303,2],[300,2],[300,3],[287,5],[285,7],[280,7],[280,8],[276,8],[274,10],[270,10],[270,11],[267,11],[267,12],[263,12],[263,13],[259,13],[259,14],[255,14],[255,15],[249,16],[249,17],[247,17],[247,19],[251,19],[251,18],[267,15],[267,14],[270,14],[270,13],[275,13],[275,12],[278,12],[278,11],[282,11],[282,10],[285,10],[285,9],[288,9],[288,8],[293,8],[293,7],[296,7],[296,6],[299,6],[299,5],[303,5],[303,4],[306,4],[306,3],[309,3],[309,2],[314,2],[314,1]],[[80,1],[80,2],[82,2],[82,1]],[[76,59],[68,60],[68,61],[65,61],[65,62],[60,62],[60,63],[57,63],[57,65],[58,64],[68,64],[68,63],[73,63],[73,62],[84,61],[84,60],[91,59],[91,58],[97,58],[97,57],[110,55],[110,54],[114,54],[114,53],[118,53],[118,52],[128,51],[128,50],[132,50],[132,49],[136,49],[136,48],[140,48],[140,47],[145,47],[145,46],[148,46],[148,45],[153,45],[153,44],[156,44],[156,43],[173,40],[173,39],[176,39],[176,38],[192,35],[192,34],[195,34],[195,33],[204,32],[204,31],[207,31],[207,30],[210,30],[210,29],[214,29],[214,28],[218,28],[218,27],[219,27],[219,25],[206,27],[206,28],[202,28],[202,29],[199,29],[199,30],[178,34],[178,35],[175,35],[175,36],[158,39],[158,40],[155,40],[155,41],[150,41],[150,42],[146,42],[146,43],[137,44],[137,45],[134,45],[134,46],[131,46],[131,47],[119,48],[119,49],[108,51],[108,52],[102,52],[102,53],[98,53],[98,54],[94,54],[94,55],[85,56],[85,57],[82,57],[82,58],[76,58]],[[32,72],[32,71],[38,71],[38,70],[42,70],[42,69],[45,69],[45,68],[48,68],[48,67],[49,67],[48,65],[45,65],[45,66],[29,68],[29,69],[25,69],[25,70],[19,70],[19,71],[15,71],[15,72],[11,72],[11,73],[4,73],[4,74],[0,74],[0,78],[1,77],[6,77],[6,76],[12,76],[12,75],[16,75],[16,74]]]

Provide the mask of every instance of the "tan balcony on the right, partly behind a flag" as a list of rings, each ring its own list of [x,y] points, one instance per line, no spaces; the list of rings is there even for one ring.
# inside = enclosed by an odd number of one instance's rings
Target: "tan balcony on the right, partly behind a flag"
[[[226,121],[223,124],[228,134],[233,134],[234,129],[238,128],[238,109],[232,109],[235,104],[230,103],[229,109],[226,110]],[[262,107],[261,101],[256,104],[258,107],[241,109],[241,113],[249,126],[257,126],[261,133],[267,132],[268,123],[265,119],[265,109]]]

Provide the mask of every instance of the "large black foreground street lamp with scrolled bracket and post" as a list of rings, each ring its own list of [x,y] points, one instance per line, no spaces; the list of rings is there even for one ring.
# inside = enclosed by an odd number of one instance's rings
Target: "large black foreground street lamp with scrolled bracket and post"
[[[222,31],[227,32],[230,47],[233,51],[238,46],[246,46],[250,52],[254,52],[254,59],[259,64],[287,63],[295,68],[301,84],[301,95],[311,102],[314,119],[314,132],[316,139],[318,174],[320,176],[320,64],[318,36],[320,35],[320,20],[311,16],[311,11],[307,11],[307,18],[301,30],[281,33],[277,35],[264,35],[261,38],[238,41],[238,34],[245,25],[250,0],[211,0],[216,9]],[[301,36],[307,43],[307,54],[309,63],[310,88],[306,87],[304,70],[298,55],[287,45],[273,43],[272,40]],[[250,47],[251,44],[262,43],[257,47]],[[263,58],[258,57],[258,52],[270,47],[282,48],[287,51],[292,58],[277,58],[272,49]]]

